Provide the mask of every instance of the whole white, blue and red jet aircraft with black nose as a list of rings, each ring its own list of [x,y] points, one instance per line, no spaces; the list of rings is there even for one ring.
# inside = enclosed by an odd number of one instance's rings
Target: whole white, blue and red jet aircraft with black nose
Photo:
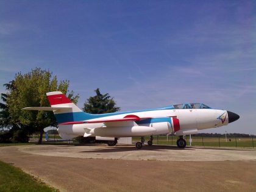
[[[63,139],[78,136],[96,137],[115,146],[120,137],[141,137],[136,143],[140,149],[144,136],[150,136],[148,145],[152,145],[153,135],[175,133],[179,136],[177,146],[185,148],[187,142],[183,135],[196,134],[198,130],[226,126],[240,118],[227,110],[210,108],[202,103],[184,103],[163,108],[90,114],[80,110],[60,91],[46,93],[51,107],[26,107],[24,110],[46,110],[54,112],[59,124],[58,132]]]

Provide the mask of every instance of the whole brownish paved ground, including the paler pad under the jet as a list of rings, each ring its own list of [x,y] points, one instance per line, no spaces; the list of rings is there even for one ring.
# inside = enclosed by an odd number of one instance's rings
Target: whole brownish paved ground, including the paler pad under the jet
[[[35,145],[0,154],[60,191],[256,191],[254,150]]]

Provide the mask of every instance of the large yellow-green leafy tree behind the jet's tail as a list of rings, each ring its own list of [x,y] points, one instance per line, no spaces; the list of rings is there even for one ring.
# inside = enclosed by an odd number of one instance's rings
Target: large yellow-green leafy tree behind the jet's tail
[[[68,93],[68,98],[74,103],[79,95],[68,91],[69,81],[61,80],[41,68],[32,69],[27,74],[18,73],[12,82],[12,89],[7,93],[7,106],[10,113],[10,123],[26,130],[27,133],[40,132],[41,143],[44,127],[57,127],[57,122],[52,112],[22,110],[24,107],[49,107],[46,93],[50,91],[62,91]],[[20,134],[20,133],[19,133]]]

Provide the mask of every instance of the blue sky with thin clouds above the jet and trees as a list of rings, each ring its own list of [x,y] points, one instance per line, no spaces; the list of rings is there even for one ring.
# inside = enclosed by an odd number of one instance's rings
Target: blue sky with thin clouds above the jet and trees
[[[35,67],[81,108],[96,88],[122,111],[203,102],[240,115],[208,132],[256,134],[255,1],[0,1],[0,85]]]

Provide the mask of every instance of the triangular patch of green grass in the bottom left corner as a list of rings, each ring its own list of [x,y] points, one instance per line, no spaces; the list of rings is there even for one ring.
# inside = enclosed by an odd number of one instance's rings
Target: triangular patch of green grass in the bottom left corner
[[[0,162],[0,191],[59,191],[48,187],[46,184],[29,176],[21,169]]]

